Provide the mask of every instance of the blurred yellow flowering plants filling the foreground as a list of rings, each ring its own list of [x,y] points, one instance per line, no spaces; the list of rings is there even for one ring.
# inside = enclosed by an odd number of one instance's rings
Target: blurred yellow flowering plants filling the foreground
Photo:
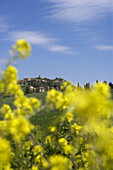
[[[62,92],[48,91],[45,102],[25,96],[12,61],[25,59],[30,51],[25,40],[18,40],[1,71],[0,95],[10,96],[12,104],[4,98],[0,107],[0,169],[112,170],[110,87],[96,83],[82,89],[68,81]]]

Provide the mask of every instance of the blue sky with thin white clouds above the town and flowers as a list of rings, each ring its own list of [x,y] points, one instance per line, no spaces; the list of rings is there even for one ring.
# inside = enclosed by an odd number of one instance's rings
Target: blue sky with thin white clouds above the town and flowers
[[[112,0],[0,0],[0,65],[19,38],[32,46],[19,79],[113,82]]]

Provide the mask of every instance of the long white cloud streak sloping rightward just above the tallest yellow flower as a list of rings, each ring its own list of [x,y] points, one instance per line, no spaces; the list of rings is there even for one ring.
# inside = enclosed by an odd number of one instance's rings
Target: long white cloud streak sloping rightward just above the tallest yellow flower
[[[38,45],[44,47],[49,51],[65,53],[65,54],[75,54],[70,47],[57,45],[56,42],[57,40],[55,38],[51,38],[50,36],[46,34],[42,34],[40,32],[12,31],[9,32],[5,40],[10,40],[12,42],[15,42],[20,38],[27,40],[31,45]]]

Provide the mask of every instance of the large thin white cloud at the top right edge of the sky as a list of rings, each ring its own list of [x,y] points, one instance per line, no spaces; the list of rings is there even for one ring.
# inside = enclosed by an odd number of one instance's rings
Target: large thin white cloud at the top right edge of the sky
[[[51,3],[50,17],[80,23],[113,12],[112,0],[46,0]]]

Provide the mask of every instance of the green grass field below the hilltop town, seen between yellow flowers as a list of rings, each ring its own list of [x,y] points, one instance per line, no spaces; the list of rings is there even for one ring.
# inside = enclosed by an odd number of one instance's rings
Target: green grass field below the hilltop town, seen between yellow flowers
[[[27,94],[27,97],[36,97],[40,100],[41,104],[45,104],[46,93],[31,93]],[[3,104],[9,104],[13,107],[13,97],[4,97],[4,95],[0,96],[0,107]],[[49,111],[47,109],[41,109],[34,116],[30,117],[30,121],[32,124],[39,126],[40,130],[43,134],[48,132],[48,126],[54,125],[58,121],[58,112],[56,110]]]

